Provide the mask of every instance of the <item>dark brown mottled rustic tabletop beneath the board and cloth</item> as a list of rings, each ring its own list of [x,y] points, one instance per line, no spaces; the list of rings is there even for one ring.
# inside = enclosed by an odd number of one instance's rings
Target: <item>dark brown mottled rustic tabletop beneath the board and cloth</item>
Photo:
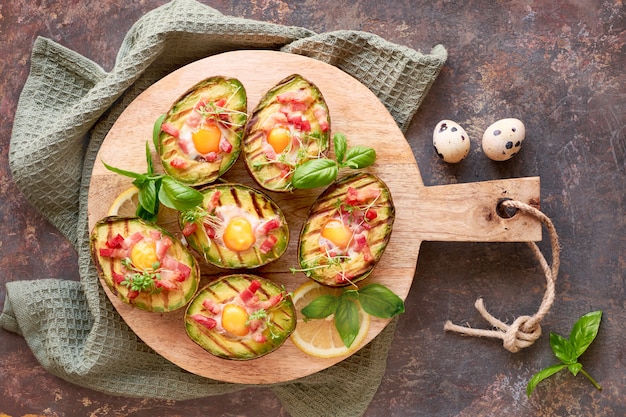
[[[497,341],[443,331],[447,319],[483,327],[473,308],[478,296],[505,321],[536,311],[543,278],[525,245],[424,243],[386,376],[366,415],[626,414],[626,11],[621,1],[203,2],[225,14],[317,32],[370,31],[418,50],[444,44],[448,62],[406,135],[425,184],[541,176],[541,207],[563,246],[557,299],[542,323],[544,336],[511,354]],[[78,279],[71,246],[25,202],[8,168],[13,113],[35,36],[52,38],[110,69],[132,23],[163,3],[0,5],[2,283]],[[480,138],[504,117],[525,122],[524,148],[509,162],[490,162],[480,151]],[[432,150],[432,129],[444,118],[460,123],[472,139],[468,159],[456,166],[441,162]],[[5,291],[1,285],[0,307]],[[577,317],[595,309],[604,310],[602,326],[581,361],[603,391],[581,375],[562,373],[527,399],[530,376],[554,363],[547,333],[567,335]],[[51,376],[21,337],[0,333],[0,416],[286,415],[266,389],[181,402],[105,396]]]

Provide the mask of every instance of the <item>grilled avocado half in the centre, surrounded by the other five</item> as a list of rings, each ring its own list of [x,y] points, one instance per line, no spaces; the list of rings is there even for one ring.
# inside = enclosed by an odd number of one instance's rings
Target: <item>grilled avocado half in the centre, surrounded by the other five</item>
[[[201,205],[180,212],[179,225],[189,246],[206,262],[226,269],[251,269],[285,252],[289,227],[270,197],[233,183],[200,191]]]

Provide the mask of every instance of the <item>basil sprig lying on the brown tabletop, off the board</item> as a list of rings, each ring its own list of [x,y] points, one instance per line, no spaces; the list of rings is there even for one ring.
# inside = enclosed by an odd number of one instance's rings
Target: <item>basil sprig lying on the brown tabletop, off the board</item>
[[[582,373],[591,381],[594,387],[602,390],[602,387],[583,369],[583,365],[578,362],[580,355],[587,350],[591,342],[596,338],[601,319],[602,311],[600,310],[585,314],[572,327],[569,339],[556,333],[550,333],[550,347],[561,363],[549,366],[533,375],[526,386],[527,396],[530,397],[530,394],[541,381],[566,368],[574,376],[578,375],[579,372]]]

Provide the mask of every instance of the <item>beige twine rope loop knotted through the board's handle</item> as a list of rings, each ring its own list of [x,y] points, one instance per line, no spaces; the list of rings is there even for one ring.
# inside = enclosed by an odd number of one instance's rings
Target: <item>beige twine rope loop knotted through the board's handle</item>
[[[531,346],[535,340],[541,336],[541,320],[548,314],[555,297],[556,277],[559,273],[560,253],[559,237],[554,228],[554,224],[548,216],[533,206],[515,200],[506,200],[501,203],[506,208],[512,208],[532,215],[543,223],[550,234],[550,244],[552,250],[552,266],[548,264],[541,250],[534,242],[528,242],[528,246],[532,250],[535,258],[539,261],[541,269],[546,277],[546,290],[541,300],[541,305],[532,316],[520,316],[508,325],[492,316],[487,309],[482,298],[476,300],[474,307],[480,315],[491,324],[494,329],[474,329],[466,326],[453,324],[448,320],[444,329],[466,336],[475,337],[491,337],[502,340],[504,348],[512,353],[519,352],[521,349]]]

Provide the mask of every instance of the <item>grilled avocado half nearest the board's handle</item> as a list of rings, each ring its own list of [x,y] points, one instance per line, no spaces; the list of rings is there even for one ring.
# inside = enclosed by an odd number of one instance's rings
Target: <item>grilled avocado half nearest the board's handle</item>
[[[387,185],[360,172],[331,184],[315,200],[298,241],[300,270],[330,287],[366,278],[393,229],[395,208]]]

